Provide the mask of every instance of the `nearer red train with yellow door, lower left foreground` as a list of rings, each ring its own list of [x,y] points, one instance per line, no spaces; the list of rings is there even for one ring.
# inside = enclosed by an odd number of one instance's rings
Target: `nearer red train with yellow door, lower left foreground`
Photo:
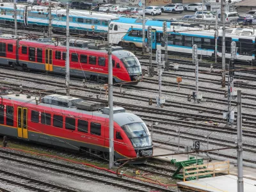
[[[104,104],[64,95],[3,95],[0,134],[107,157],[108,114]],[[120,107],[114,108],[114,148],[116,159],[153,153],[147,125]]]

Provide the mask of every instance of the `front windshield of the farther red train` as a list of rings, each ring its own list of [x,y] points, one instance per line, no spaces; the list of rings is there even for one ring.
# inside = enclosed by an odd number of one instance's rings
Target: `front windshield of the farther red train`
[[[124,63],[124,66],[127,68],[129,74],[141,73],[140,61],[136,57],[122,58],[121,61]]]

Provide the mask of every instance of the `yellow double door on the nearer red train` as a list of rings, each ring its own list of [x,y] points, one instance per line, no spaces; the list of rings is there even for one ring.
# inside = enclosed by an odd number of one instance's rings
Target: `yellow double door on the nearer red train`
[[[18,107],[17,129],[19,138],[28,139],[28,108]]]

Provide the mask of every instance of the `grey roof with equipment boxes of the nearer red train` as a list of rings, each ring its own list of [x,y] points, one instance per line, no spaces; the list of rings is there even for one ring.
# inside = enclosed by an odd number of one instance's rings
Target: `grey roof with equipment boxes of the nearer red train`
[[[12,104],[16,102],[22,102],[22,107],[24,108],[38,108],[38,110],[48,110],[55,113],[60,113],[61,115],[69,115],[78,118],[92,118],[92,116],[97,119],[100,118],[108,118],[109,117],[109,108],[104,106],[104,104],[100,104],[99,102],[93,102],[90,100],[82,100],[77,97],[70,97],[65,95],[45,95],[39,100],[39,97],[29,96],[24,94],[8,94],[3,95],[3,99],[12,100]],[[61,106],[60,104],[62,102]],[[68,107],[63,106],[63,102],[72,103]],[[19,105],[19,103],[17,103]],[[67,104],[68,105],[68,104]],[[98,108],[99,107],[99,108]],[[90,111],[86,109],[92,109]],[[48,112],[47,111],[47,112]],[[46,111],[45,111],[46,112]],[[114,107],[114,121],[122,126],[125,124],[131,124],[136,122],[143,122],[140,117],[132,114],[126,113],[125,109],[122,107]]]

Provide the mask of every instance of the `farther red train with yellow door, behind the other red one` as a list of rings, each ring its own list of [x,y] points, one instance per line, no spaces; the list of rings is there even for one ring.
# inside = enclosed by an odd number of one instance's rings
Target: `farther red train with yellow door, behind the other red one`
[[[42,40],[42,39],[40,39]],[[0,64],[22,70],[65,74],[66,47],[51,42],[0,36]],[[116,83],[138,83],[142,79],[140,62],[132,52],[112,52],[113,79]],[[108,80],[108,52],[105,49],[70,47],[70,76],[105,82]]]

